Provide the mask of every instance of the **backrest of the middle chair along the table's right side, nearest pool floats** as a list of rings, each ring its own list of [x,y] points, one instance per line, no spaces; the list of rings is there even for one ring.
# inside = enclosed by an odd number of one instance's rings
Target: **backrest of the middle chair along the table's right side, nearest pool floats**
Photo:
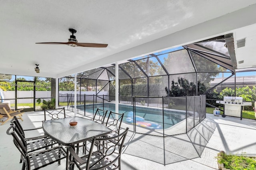
[[[115,113],[110,111],[106,121],[106,127],[118,131],[121,127],[124,118],[124,113]]]

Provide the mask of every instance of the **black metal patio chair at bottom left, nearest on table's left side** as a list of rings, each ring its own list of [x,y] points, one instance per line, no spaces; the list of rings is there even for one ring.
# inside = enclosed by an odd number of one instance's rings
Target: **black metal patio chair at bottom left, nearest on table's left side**
[[[24,146],[24,143],[26,143],[24,138],[21,135],[16,135],[14,128],[15,125],[11,124],[6,133],[12,135],[14,145],[21,153],[22,170],[38,170],[54,162],[58,162],[60,165],[60,160],[66,158],[66,151],[62,148],[62,145],[29,153]]]

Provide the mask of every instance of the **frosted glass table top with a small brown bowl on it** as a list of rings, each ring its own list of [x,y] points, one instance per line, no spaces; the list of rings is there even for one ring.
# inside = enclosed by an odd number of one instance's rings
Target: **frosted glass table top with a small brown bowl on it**
[[[69,123],[72,121],[78,122],[77,125],[70,126]],[[92,137],[100,137],[112,132],[105,125],[82,117],[66,117],[42,122],[44,132],[65,146],[75,145]]]

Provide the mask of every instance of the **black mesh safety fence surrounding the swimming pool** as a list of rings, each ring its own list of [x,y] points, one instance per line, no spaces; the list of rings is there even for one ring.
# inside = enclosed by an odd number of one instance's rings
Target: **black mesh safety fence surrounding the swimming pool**
[[[78,113],[93,117],[96,109],[115,112],[115,96],[77,95]],[[135,133],[168,137],[188,133],[206,118],[206,96],[142,97],[120,96],[118,113],[124,113],[122,128]],[[74,111],[74,94],[59,101]]]

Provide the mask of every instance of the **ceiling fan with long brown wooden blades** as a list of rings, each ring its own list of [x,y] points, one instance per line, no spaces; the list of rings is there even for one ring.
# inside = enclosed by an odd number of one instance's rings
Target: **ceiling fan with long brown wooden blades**
[[[78,43],[76,36],[74,36],[74,33],[76,33],[76,29],[70,28],[68,30],[70,31],[70,33],[72,33],[72,35],[70,35],[70,38],[68,39],[67,43],[48,42],[48,43],[36,43],[36,44],[65,44],[71,47],[107,47],[108,46],[108,44]]]

